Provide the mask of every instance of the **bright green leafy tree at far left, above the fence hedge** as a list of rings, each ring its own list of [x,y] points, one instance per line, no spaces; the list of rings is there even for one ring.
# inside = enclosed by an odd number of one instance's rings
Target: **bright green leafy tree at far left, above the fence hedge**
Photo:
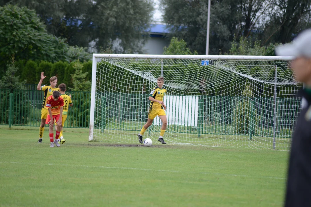
[[[46,60],[56,62],[67,58],[63,39],[47,33],[35,11],[26,7],[0,7],[0,67],[16,60]],[[0,73],[1,74],[1,73]]]

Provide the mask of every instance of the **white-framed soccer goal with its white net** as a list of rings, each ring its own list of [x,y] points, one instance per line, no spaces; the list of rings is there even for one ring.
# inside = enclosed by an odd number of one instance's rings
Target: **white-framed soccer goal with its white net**
[[[170,144],[289,150],[302,100],[291,57],[93,54],[89,140],[138,143],[164,77]],[[156,142],[157,117],[144,134]]]

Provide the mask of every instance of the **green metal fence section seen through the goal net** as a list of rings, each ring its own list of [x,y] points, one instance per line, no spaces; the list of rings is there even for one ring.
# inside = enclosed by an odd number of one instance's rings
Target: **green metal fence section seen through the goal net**
[[[148,118],[148,94],[103,93],[97,95],[95,126],[102,129],[137,131]],[[189,99],[190,100],[190,99]],[[172,125],[167,132],[198,134],[248,134],[290,138],[300,109],[300,98],[201,96],[197,127]],[[276,108],[276,114],[274,114]],[[237,117],[243,117],[238,121]],[[276,117],[276,124],[273,120]],[[241,123],[239,123],[241,122]],[[239,129],[241,125],[242,129]],[[151,125],[152,131],[160,126]]]

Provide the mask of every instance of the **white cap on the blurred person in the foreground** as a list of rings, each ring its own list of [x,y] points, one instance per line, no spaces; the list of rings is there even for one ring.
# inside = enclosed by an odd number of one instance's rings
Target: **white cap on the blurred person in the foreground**
[[[292,43],[276,47],[275,52],[277,56],[311,58],[311,29],[301,32]]]

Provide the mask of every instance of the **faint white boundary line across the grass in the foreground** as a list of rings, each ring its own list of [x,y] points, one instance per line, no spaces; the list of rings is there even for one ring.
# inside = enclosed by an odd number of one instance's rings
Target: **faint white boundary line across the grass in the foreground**
[[[0,161],[0,164],[24,164],[24,165],[54,165],[54,166],[65,166],[65,167],[80,167],[80,168],[102,168],[102,169],[124,169],[124,170],[141,170],[141,171],[155,171],[155,172],[168,172],[168,173],[183,173],[178,170],[156,170],[156,169],[145,169],[145,168],[126,168],[126,167],[108,167],[108,166],[89,166],[89,165],[75,165],[75,164],[38,164],[38,163],[22,163],[22,162],[4,162]],[[235,174],[226,174],[226,173],[211,173],[203,172],[199,174],[210,174],[210,175],[223,175],[223,176],[232,176],[232,177],[249,177],[249,178],[268,178],[268,179],[278,179],[285,180],[286,178],[280,177],[270,177],[270,176],[253,176],[253,175],[235,175]]]

